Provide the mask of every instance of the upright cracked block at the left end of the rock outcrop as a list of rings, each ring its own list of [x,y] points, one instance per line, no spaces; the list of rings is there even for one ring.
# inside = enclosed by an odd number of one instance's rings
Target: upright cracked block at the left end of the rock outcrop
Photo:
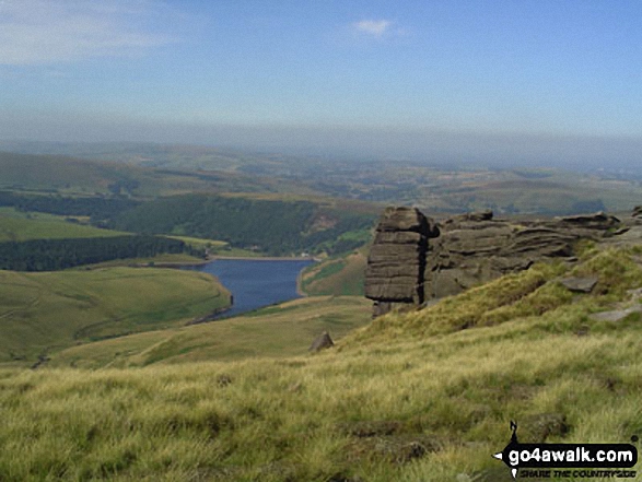
[[[395,304],[423,303],[428,239],[437,234],[434,222],[415,208],[384,211],[365,272],[365,296],[374,299],[375,316]]]

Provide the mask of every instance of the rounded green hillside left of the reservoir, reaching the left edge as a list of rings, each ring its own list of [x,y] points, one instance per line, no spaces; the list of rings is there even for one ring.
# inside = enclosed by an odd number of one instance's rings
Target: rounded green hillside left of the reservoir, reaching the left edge
[[[182,326],[227,305],[225,289],[192,271],[0,271],[0,362],[33,364],[67,346]]]

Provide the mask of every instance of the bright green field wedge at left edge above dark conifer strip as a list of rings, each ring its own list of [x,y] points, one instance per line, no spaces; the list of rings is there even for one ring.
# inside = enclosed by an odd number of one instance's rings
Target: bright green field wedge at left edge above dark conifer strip
[[[62,216],[24,213],[13,208],[0,208],[0,243],[28,239],[60,239],[78,237],[122,236],[127,233],[100,230],[71,223]]]

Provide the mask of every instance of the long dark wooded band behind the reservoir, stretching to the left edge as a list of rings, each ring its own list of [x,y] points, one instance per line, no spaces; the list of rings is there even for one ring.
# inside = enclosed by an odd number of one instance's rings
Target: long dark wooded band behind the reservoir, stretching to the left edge
[[[369,233],[376,219],[374,214],[348,212],[310,201],[211,195],[171,196],[141,202],[124,197],[73,198],[0,191],[2,205],[21,211],[90,216],[94,226],[130,233],[220,239],[234,247],[273,256],[303,251],[334,255],[354,249],[364,243],[363,234]],[[346,236],[348,233],[351,235]],[[35,249],[43,248],[38,245]],[[51,266],[51,262],[45,264]]]

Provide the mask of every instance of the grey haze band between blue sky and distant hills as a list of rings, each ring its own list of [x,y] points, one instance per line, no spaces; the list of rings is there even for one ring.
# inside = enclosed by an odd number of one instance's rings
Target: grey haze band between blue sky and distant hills
[[[1,122],[0,120],[0,126]],[[631,169],[639,167],[642,152],[642,140],[639,139],[588,136],[245,126],[155,126],[148,129],[130,126],[128,130],[121,124],[119,129],[122,136],[103,137],[100,132],[92,132],[94,127],[95,125],[79,126],[77,132],[84,132],[82,141],[63,132],[40,139],[0,138],[0,150],[7,145],[28,143],[184,144],[266,154],[339,157],[346,161],[393,160],[427,165],[530,166],[573,171]],[[138,134],[139,129],[149,132],[149,136]]]

